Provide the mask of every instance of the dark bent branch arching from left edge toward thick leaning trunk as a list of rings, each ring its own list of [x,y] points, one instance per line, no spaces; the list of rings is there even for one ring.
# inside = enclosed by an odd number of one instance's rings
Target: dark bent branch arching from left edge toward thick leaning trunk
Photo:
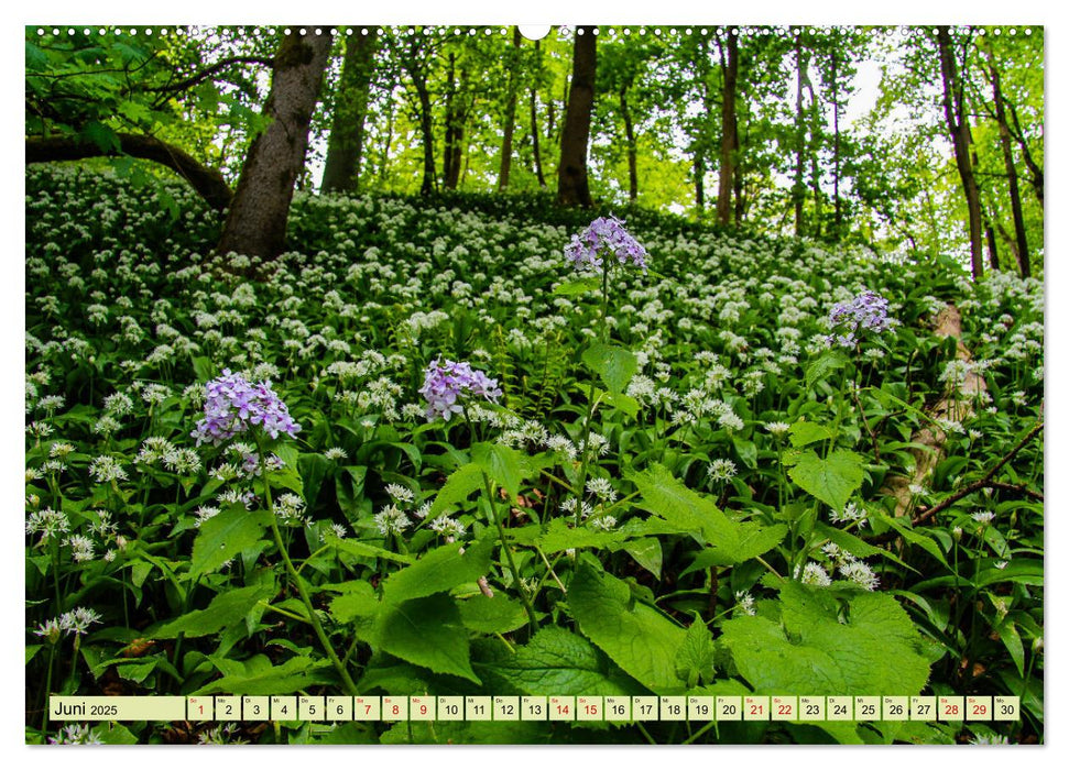
[[[96,142],[77,136],[52,136],[48,139],[26,139],[26,163],[48,163],[52,161],[80,161],[86,157],[129,155],[144,161],[154,161],[171,168],[189,183],[205,201],[216,211],[230,205],[233,194],[227,186],[222,174],[215,168],[201,165],[184,150],[161,142],[154,136],[140,134],[116,134],[120,150],[101,150]]]

